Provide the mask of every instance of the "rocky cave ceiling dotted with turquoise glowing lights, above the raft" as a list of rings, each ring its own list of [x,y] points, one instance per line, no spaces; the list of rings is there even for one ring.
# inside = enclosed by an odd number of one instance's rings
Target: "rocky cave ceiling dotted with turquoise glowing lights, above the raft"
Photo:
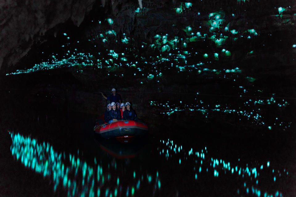
[[[32,68],[32,62],[24,65],[26,56],[31,53],[31,58],[34,52],[41,57],[43,51],[36,48],[53,42],[60,47],[52,53],[68,55],[75,52],[74,42],[97,47],[102,55],[97,59],[113,54],[118,60],[107,61],[108,65],[165,59],[179,63],[178,59],[193,56],[196,63],[236,64],[256,56],[293,65],[295,21],[294,1],[1,1],[0,71]],[[34,62],[37,67],[58,58],[45,55],[43,61]]]

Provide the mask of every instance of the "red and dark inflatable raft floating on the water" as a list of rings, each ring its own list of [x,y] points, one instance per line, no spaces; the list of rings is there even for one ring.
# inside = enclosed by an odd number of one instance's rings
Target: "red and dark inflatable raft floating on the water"
[[[147,125],[134,120],[119,120],[113,123],[96,125],[93,130],[105,139],[114,137],[127,138],[148,134]]]

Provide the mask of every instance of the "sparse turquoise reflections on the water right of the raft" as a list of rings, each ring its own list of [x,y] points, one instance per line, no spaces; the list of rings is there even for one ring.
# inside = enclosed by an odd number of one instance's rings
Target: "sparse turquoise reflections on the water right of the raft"
[[[168,162],[171,159],[178,160],[179,164],[185,162],[191,162],[193,164],[193,170],[191,170],[191,181],[194,179],[199,179],[199,176],[214,176],[219,175],[229,175],[232,174],[233,177],[237,179],[237,183],[243,183],[243,185],[237,184],[237,195],[244,195],[252,193],[259,196],[282,196],[282,193],[278,190],[271,194],[268,191],[260,189],[259,185],[270,184],[271,182],[276,182],[277,179],[285,179],[289,173],[286,169],[274,170],[272,169],[270,162],[265,164],[246,164],[245,167],[242,165],[234,165],[224,159],[213,158],[208,156],[207,147],[201,151],[195,151],[192,148],[189,151],[183,150],[182,146],[177,146],[174,144],[173,140],[160,140],[161,145],[158,147],[159,155],[163,155],[167,158]],[[177,158],[176,158],[177,157]],[[240,163],[240,159],[238,159]],[[262,175],[262,176],[261,176]],[[262,184],[259,184],[262,183]]]

